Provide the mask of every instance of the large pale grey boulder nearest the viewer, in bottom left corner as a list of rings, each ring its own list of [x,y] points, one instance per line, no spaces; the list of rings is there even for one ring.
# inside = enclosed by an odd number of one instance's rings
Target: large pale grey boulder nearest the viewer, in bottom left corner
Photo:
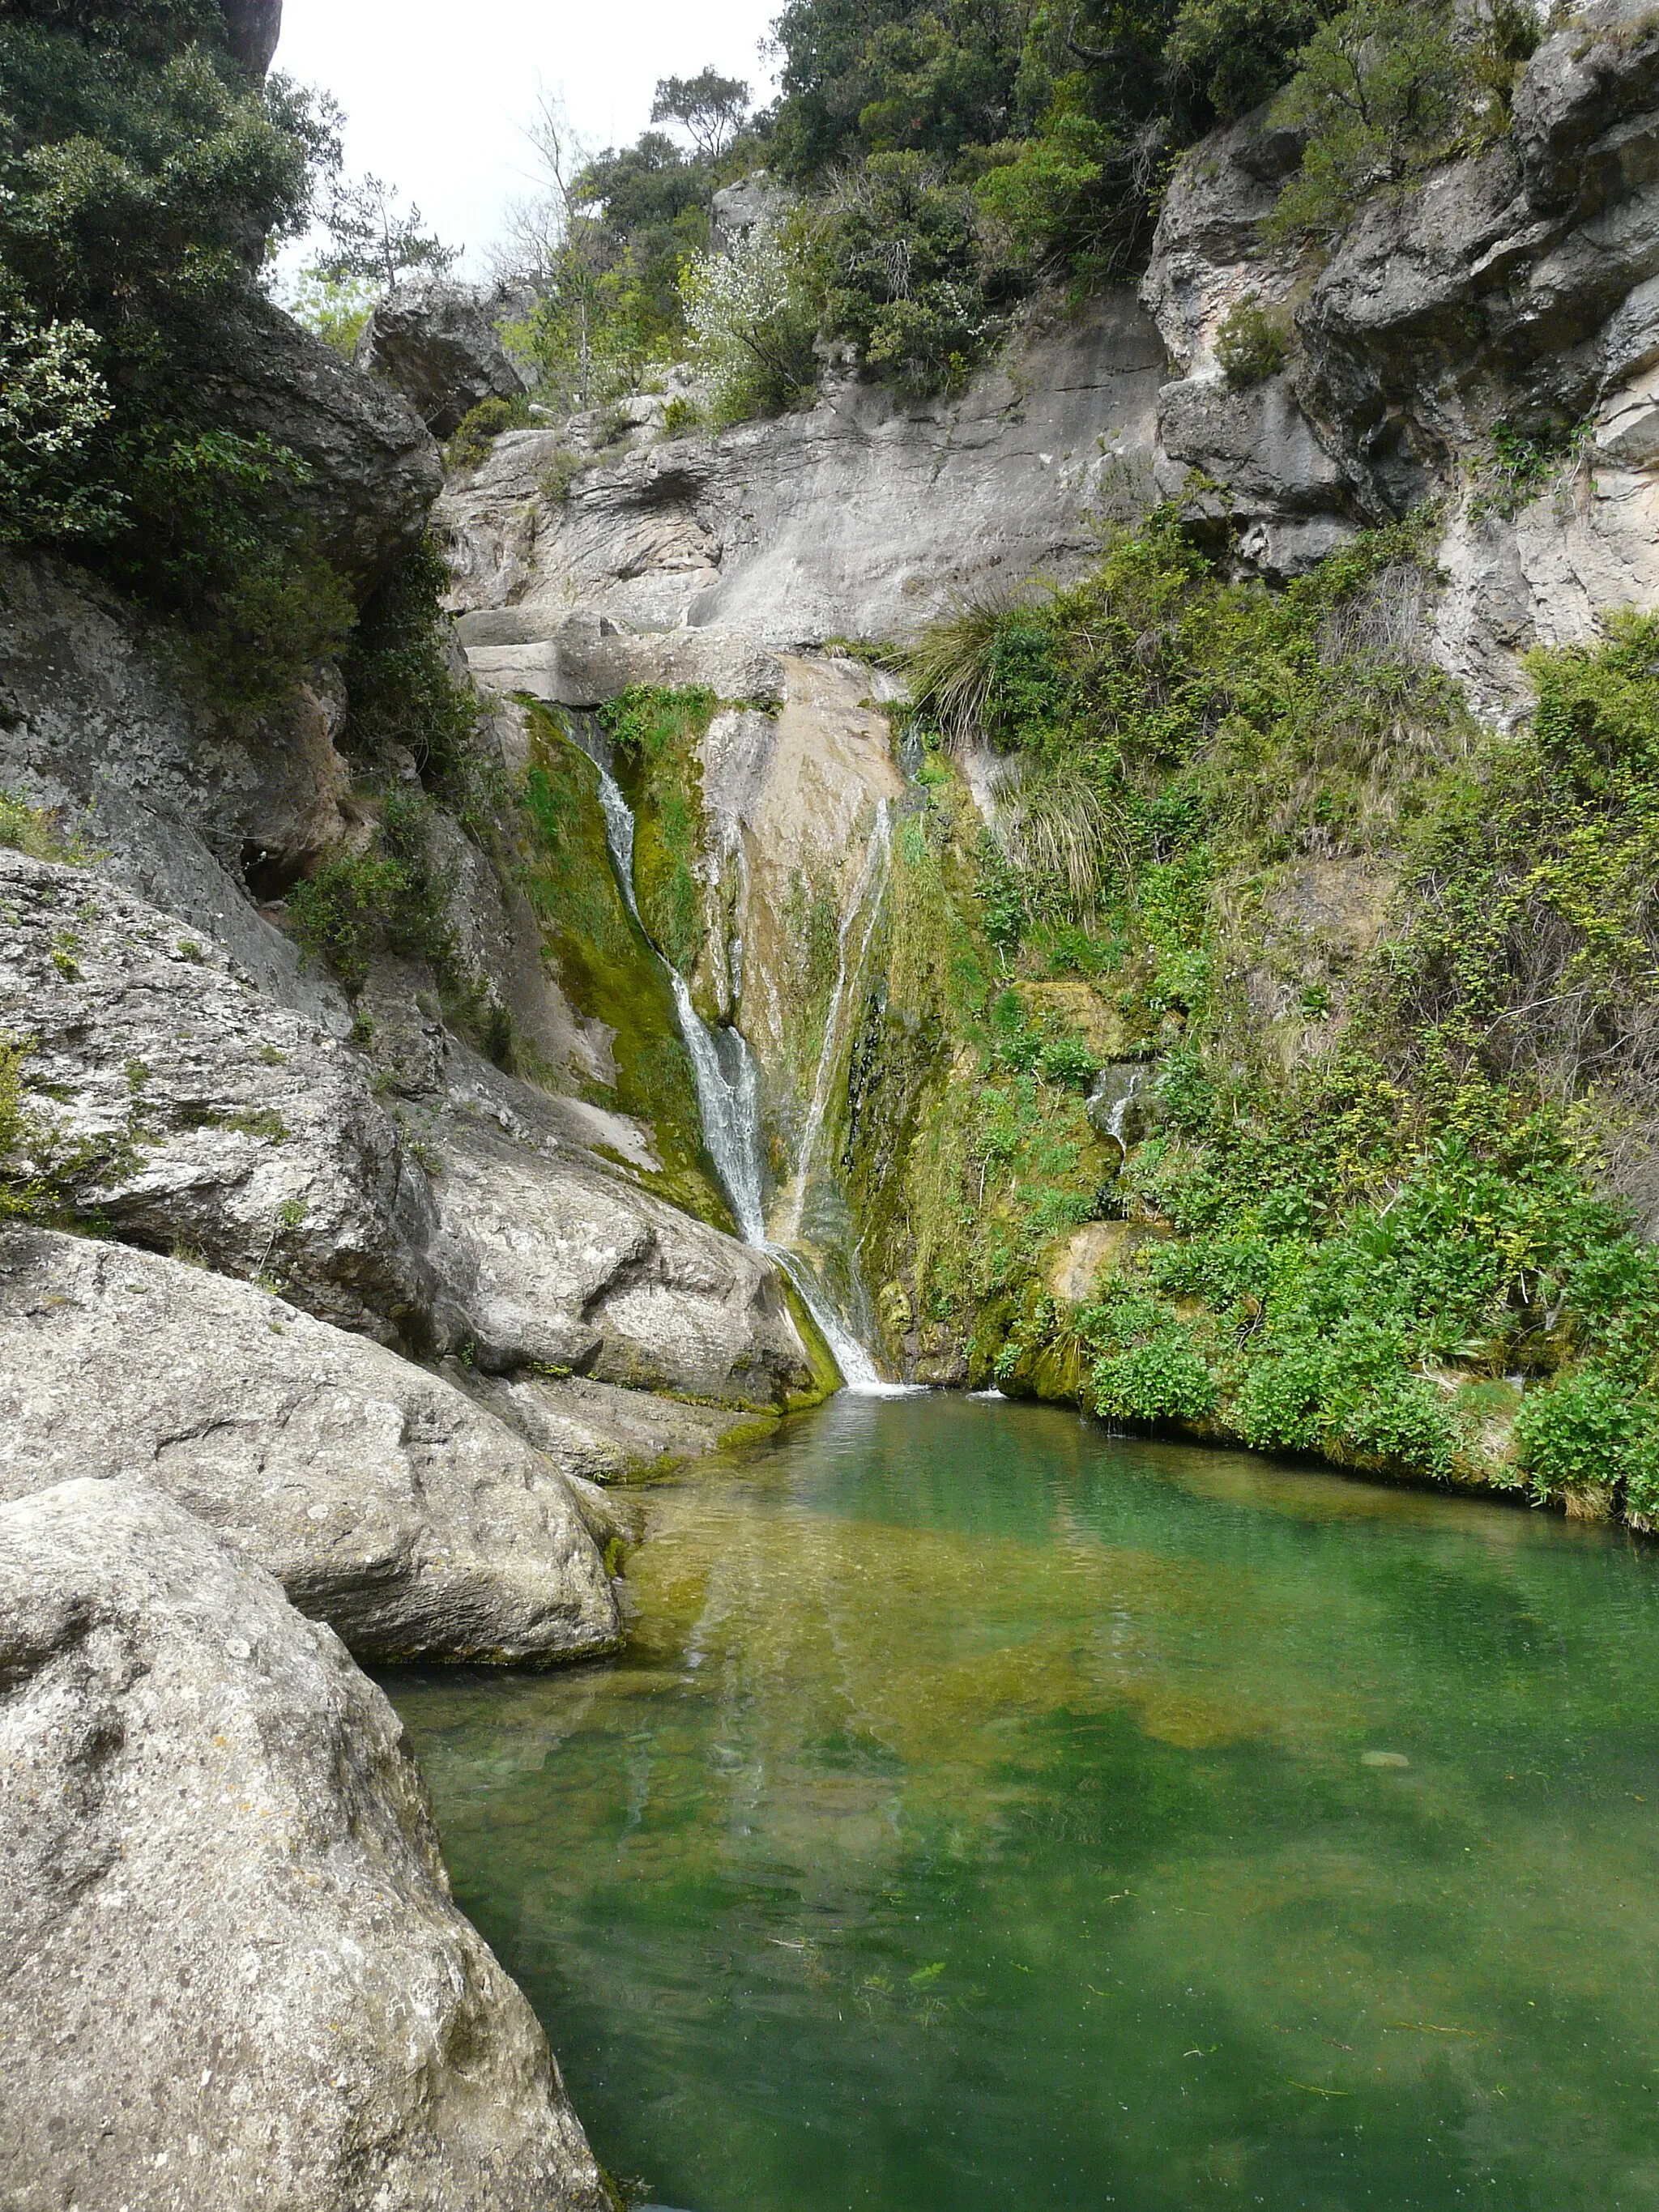
[[[387,1699],[155,1491],[0,1511],[13,2212],[606,2212]]]

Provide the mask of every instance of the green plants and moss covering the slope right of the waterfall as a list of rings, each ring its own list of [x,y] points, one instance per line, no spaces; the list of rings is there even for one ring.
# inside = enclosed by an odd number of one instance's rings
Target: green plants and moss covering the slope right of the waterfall
[[[1491,734],[1427,586],[1411,531],[1232,586],[1161,513],[922,648],[865,1254],[891,1352],[1004,1389],[1652,1515],[1659,626],[1535,655]],[[1102,834],[1020,852],[1051,776]]]

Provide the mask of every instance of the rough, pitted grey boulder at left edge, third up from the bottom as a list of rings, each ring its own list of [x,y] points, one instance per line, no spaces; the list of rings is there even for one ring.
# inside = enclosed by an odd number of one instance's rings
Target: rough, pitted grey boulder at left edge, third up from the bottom
[[[458,1334],[427,1177],[347,1046],[86,869],[0,849],[0,911],[29,1150],[62,1199],[345,1327]]]

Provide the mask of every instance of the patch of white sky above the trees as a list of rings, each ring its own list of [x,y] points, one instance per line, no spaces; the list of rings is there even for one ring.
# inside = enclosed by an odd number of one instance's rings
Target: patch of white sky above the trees
[[[624,146],[657,77],[714,62],[770,97],[754,49],[776,13],[779,0],[283,0],[274,66],[334,93],[347,168],[416,199],[476,274],[502,204],[531,188],[522,124],[538,86],[564,95],[595,150]]]

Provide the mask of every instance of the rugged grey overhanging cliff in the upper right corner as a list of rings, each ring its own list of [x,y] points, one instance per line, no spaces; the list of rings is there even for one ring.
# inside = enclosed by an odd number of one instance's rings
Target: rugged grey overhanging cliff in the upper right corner
[[[1659,29],[1639,0],[1582,9],[1526,64],[1500,146],[1371,197],[1307,265],[1261,230],[1296,157],[1245,119],[1170,186],[1144,285],[1181,372],[1159,480],[1225,484],[1270,575],[1447,498],[1438,653],[1504,712],[1526,646],[1659,593]],[[1232,389],[1214,347],[1250,294],[1292,345]],[[1495,422],[1555,442],[1544,482],[1502,482]]]

